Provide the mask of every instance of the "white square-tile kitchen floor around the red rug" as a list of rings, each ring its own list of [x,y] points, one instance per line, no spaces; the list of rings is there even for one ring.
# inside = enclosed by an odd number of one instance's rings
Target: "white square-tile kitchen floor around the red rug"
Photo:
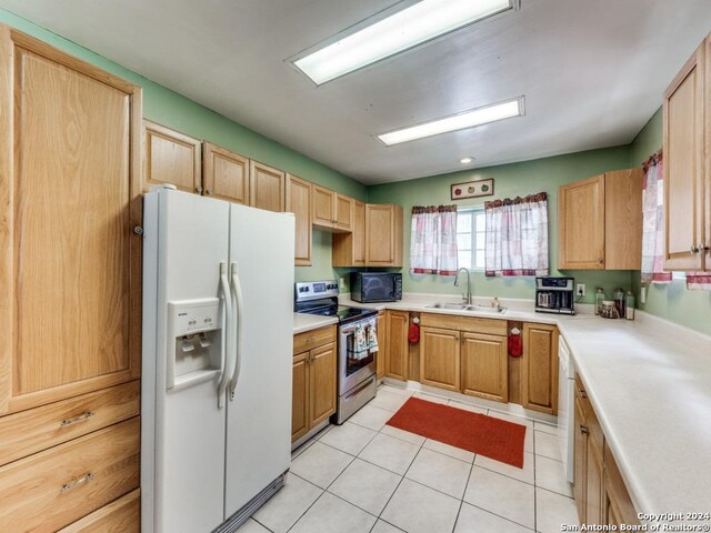
[[[540,533],[578,524],[551,425],[417,392],[528,428],[523,469],[385,425],[412,394],[383,385],[292,454],[286,486],[239,533]]]

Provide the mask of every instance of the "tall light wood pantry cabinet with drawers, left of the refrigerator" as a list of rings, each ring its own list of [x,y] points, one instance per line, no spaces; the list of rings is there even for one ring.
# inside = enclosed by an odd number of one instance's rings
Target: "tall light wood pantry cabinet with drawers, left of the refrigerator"
[[[0,531],[138,531],[141,90],[0,27]]]

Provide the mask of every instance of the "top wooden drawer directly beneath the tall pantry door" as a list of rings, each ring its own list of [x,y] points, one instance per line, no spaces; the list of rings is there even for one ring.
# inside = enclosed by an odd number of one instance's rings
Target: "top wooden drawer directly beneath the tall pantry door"
[[[0,419],[0,466],[139,414],[140,382]]]

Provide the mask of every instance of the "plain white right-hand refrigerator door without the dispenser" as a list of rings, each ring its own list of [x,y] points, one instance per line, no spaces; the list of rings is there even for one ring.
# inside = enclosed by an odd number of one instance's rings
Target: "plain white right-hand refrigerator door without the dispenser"
[[[293,215],[231,205],[239,334],[227,401],[226,517],[286,472],[291,460],[293,248]]]

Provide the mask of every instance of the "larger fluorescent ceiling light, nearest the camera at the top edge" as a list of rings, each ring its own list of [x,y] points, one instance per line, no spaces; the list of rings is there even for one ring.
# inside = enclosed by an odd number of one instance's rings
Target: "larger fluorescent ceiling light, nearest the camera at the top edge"
[[[514,1],[421,0],[390,17],[382,18],[381,13],[368,19],[358,24],[360,30],[292,62],[320,86],[478,20],[513,9]]]

